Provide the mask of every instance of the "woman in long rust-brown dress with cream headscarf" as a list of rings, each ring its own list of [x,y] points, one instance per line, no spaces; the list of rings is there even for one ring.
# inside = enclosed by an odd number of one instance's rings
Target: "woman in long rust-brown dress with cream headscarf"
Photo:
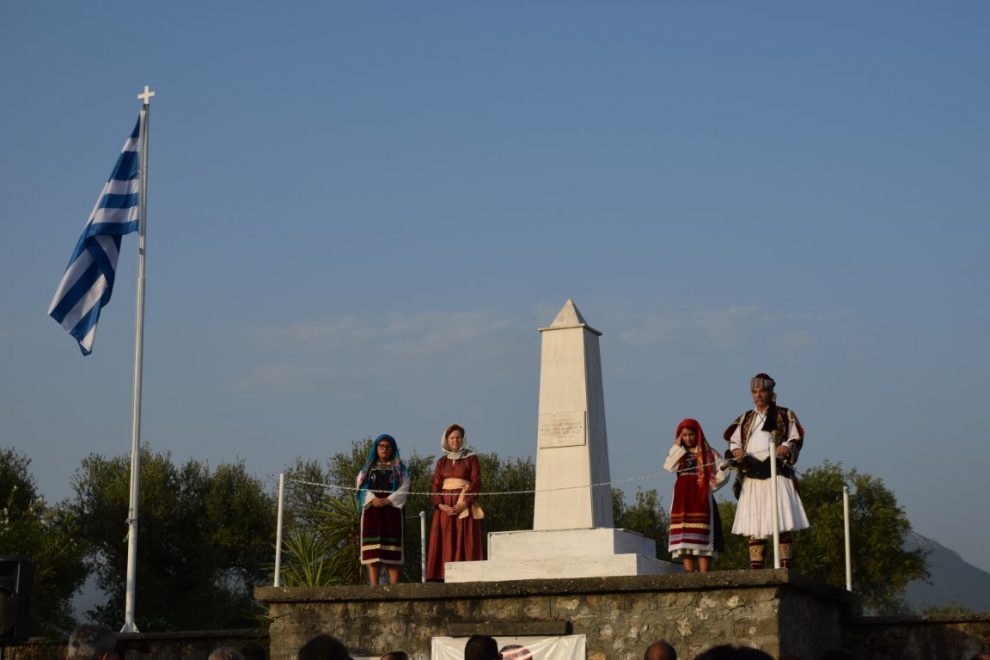
[[[437,461],[430,486],[433,523],[426,579],[431,582],[443,582],[446,562],[484,559],[481,545],[484,512],[476,502],[481,490],[478,457],[464,446],[464,427],[459,424],[447,427],[440,448],[444,455]]]

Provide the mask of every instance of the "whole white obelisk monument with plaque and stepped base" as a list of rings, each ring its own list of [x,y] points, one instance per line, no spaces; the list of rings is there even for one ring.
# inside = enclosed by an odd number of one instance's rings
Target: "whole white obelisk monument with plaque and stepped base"
[[[649,575],[678,570],[676,565],[656,559],[653,539],[612,527],[598,346],[601,333],[589,326],[568,300],[540,334],[533,529],[489,534],[488,560],[450,562],[445,567],[446,581]],[[495,507],[499,501],[492,497],[485,504]]]

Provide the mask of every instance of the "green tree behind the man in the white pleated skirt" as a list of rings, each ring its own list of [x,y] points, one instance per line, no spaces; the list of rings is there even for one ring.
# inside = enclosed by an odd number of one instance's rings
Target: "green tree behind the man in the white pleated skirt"
[[[881,614],[906,611],[904,590],[912,580],[929,577],[925,552],[905,550],[911,524],[881,479],[825,461],[798,479],[801,501],[811,528],[794,535],[795,567],[828,584],[845,587],[842,486],[848,484],[853,589],[864,606]],[[726,549],[721,569],[749,566],[746,539],[731,534],[735,502],[719,503]],[[772,551],[768,553],[772,561]]]

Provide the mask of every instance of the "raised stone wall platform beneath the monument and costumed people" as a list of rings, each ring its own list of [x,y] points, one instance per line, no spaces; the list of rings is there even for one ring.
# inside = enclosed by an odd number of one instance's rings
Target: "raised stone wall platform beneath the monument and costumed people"
[[[429,658],[430,638],[583,634],[588,657],[640,658],[665,638],[690,658],[715,644],[746,644],[816,658],[841,645],[847,592],[787,570],[708,574],[257,589],[269,607],[272,660],[292,660],[306,640],[328,633],[355,655],[402,649]],[[807,625],[808,621],[814,625]],[[782,625],[798,627],[789,634]]]

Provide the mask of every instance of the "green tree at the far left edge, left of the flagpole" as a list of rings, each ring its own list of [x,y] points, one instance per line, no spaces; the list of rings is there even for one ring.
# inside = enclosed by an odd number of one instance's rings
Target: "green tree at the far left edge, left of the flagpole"
[[[39,497],[30,459],[0,449],[0,555],[35,563],[31,634],[62,637],[75,626],[72,597],[88,573],[76,516]]]

